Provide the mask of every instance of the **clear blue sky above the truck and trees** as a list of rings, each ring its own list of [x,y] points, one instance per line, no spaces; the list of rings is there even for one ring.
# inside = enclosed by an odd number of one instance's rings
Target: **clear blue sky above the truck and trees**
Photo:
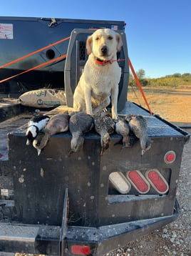
[[[9,0],[0,16],[125,21],[128,53],[145,77],[191,73],[190,0]]]

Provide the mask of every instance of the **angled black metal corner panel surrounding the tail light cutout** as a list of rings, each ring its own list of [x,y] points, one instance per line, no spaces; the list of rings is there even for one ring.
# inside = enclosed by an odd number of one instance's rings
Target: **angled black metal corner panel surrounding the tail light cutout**
[[[99,184],[98,219],[100,225],[172,215],[184,142],[181,140],[178,142],[177,139],[172,138],[153,138],[152,149],[150,152],[146,152],[143,157],[140,156],[138,143],[133,148],[120,151],[121,146],[113,146],[115,142],[112,142],[110,150],[105,152],[100,164],[100,170],[104,170],[104,172],[100,172],[101,182]],[[163,145],[162,148],[161,144]],[[174,163],[165,164],[164,155],[170,150],[175,150],[177,158]],[[170,169],[170,189],[167,195],[136,196],[136,193],[134,196],[108,196],[108,186],[105,187],[105,184],[107,184],[111,172],[123,172],[125,174],[130,170],[140,170],[144,173],[147,169]]]

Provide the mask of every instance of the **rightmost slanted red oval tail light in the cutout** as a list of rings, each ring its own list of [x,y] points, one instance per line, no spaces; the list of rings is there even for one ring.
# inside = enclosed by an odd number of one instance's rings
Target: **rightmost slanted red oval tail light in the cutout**
[[[165,178],[160,174],[158,169],[150,169],[145,173],[146,177],[148,178],[148,181],[152,185],[152,187],[159,193],[159,194],[165,194],[169,186],[167,184],[167,181]]]

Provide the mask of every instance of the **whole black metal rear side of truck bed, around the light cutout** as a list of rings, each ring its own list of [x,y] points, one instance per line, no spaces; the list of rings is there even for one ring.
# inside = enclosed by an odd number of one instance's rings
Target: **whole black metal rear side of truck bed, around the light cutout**
[[[110,148],[101,158],[100,139],[96,134],[93,137],[87,136],[83,151],[71,157],[67,155],[70,134],[52,137],[39,157],[33,147],[26,149],[25,137],[9,134],[9,139],[14,200],[20,222],[61,225],[66,187],[70,198],[70,225],[74,222],[75,225],[98,227],[127,220],[172,215],[184,144],[181,138],[153,138],[150,152],[140,157],[139,144],[120,151],[120,145],[114,146],[118,137],[113,136]],[[177,158],[174,163],[165,164],[163,158],[169,150],[174,150]],[[167,195],[142,195],[134,200],[122,195],[118,202],[109,200],[110,172],[152,168],[171,170]]]

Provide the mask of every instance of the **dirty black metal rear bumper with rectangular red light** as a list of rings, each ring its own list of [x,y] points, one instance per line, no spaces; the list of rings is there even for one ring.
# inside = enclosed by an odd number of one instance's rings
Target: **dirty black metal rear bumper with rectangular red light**
[[[174,221],[180,214],[175,200],[173,215],[102,227],[67,226],[67,202],[61,226],[0,223],[0,252],[45,255],[106,255],[133,240]]]

